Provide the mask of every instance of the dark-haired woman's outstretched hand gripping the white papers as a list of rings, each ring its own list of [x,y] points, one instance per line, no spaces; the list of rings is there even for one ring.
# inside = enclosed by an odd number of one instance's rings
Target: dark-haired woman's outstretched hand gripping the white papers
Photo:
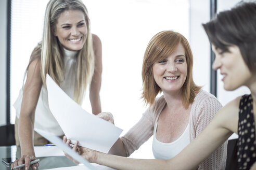
[[[66,136],[63,137],[63,142],[66,143],[66,145],[70,146],[71,144],[71,140],[67,139]],[[70,146],[72,148],[72,150],[74,150],[75,152],[79,153],[84,159],[86,159],[87,161],[91,162],[91,163],[95,163],[97,160],[97,151],[92,150],[92,149],[88,149],[82,146],[78,145],[78,141],[75,142],[75,144],[73,146]],[[76,161],[75,159],[73,159],[72,157],[70,157],[70,155],[68,155],[67,153],[65,153],[66,157],[69,158],[70,160],[72,160],[74,163],[79,163],[78,161]]]

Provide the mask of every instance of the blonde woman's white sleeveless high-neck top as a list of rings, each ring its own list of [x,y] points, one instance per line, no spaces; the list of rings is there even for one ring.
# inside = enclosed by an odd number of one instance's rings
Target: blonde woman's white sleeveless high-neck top
[[[64,64],[65,64],[65,80],[60,83],[60,88],[65,91],[71,98],[74,96],[74,87],[75,87],[75,58],[77,51],[69,51],[64,49]],[[16,116],[20,117],[21,102],[23,97],[23,88],[20,89],[19,96],[14,103],[16,109]],[[48,95],[45,86],[42,86],[39,100],[35,109],[35,129],[41,129],[47,132],[51,132],[57,136],[63,135],[58,122],[50,112],[48,105]]]

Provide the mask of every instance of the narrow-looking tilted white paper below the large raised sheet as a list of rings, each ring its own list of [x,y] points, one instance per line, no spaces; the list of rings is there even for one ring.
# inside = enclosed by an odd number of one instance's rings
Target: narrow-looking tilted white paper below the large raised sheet
[[[39,133],[40,135],[42,135],[43,137],[45,137],[50,142],[52,142],[53,144],[57,145],[60,149],[62,149],[67,154],[69,154],[70,157],[72,157],[76,161],[84,164],[86,166],[86,168],[85,168],[86,170],[87,169],[96,170],[96,168],[93,165],[91,165],[87,160],[85,160],[83,157],[81,157],[80,154],[76,153],[70,147],[68,147],[65,143],[63,143],[63,141],[58,136],[52,135],[49,132],[45,132],[45,131],[42,131],[39,129],[35,129],[35,131],[37,133]],[[73,168],[73,166],[72,166],[72,168]]]

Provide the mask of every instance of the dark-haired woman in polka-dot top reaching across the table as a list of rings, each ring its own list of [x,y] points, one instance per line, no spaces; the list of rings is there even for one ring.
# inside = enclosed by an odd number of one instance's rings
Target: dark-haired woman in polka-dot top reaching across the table
[[[73,149],[91,162],[117,169],[193,169],[237,133],[238,168],[256,169],[256,3],[239,3],[203,27],[216,54],[213,68],[220,69],[224,89],[246,86],[251,94],[221,108],[206,129],[173,159],[130,159],[82,147]]]

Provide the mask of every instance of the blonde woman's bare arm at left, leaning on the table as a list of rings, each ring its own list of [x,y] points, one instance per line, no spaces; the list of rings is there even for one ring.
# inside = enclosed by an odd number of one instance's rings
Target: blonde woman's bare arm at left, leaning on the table
[[[19,139],[21,158],[18,164],[25,162],[25,166],[35,157],[33,137],[35,108],[42,88],[40,74],[40,60],[35,59],[28,67],[27,80],[24,84],[23,98],[19,118]],[[38,164],[37,164],[38,166]]]

